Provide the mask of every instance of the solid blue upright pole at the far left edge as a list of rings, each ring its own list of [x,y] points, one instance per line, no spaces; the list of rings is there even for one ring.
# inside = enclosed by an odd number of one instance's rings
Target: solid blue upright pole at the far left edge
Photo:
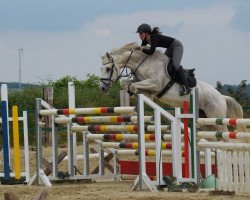
[[[6,101],[2,101],[1,104],[2,104],[2,140],[3,140],[4,178],[6,180],[10,180],[7,104],[6,104]]]

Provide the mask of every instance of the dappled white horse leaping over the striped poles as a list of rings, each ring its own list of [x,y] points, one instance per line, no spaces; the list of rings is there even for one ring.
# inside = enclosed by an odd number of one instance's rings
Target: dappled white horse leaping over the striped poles
[[[148,56],[139,49],[138,44],[130,43],[109,53],[106,52],[101,57],[100,89],[103,92],[108,92],[113,83],[123,77],[124,69],[129,68],[131,73],[127,73],[127,76],[133,75],[133,78],[123,78],[121,86],[130,93],[141,92],[151,99],[157,98],[171,79],[166,69],[171,59],[160,50]],[[189,95],[179,95],[179,87],[178,83],[174,83],[159,101],[174,107],[181,107],[183,101],[189,102]],[[199,80],[195,87],[198,90],[200,117],[243,118],[242,107],[234,98],[222,95],[211,85]],[[237,125],[237,129],[246,131],[244,125]],[[201,130],[228,131],[227,126],[206,126]]]

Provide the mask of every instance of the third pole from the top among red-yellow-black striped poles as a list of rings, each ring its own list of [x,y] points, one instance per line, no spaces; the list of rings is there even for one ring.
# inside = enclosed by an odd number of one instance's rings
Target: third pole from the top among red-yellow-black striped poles
[[[162,125],[161,131],[167,132],[170,129],[169,125]],[[139,127],[137,125],[88,125],[88,126],[72,126],[72,131],[90,131],[90,132],[118,132],[118,131],[128,131],[128,132],[138,132]],[[145,126],[145,131],[154,131],[154,126]]]

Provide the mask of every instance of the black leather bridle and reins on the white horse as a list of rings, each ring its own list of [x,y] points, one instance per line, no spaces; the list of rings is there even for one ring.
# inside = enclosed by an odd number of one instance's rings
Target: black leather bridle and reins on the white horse
[[[107,64],[112,63],[112,66],[111,66],[111,71],[110,71],[110,76],[109,76],[109,78],[100,78],[100,81],[101,81],[102,83],[104,83],[106,86],[110,86],[111,84],[116,83],[121,77],[128,77],[128,78],[131,78],[133,75],[136,77],[136,72],[137,72],[138,68],[139,68],[139,67],[141,66],[141,64],[146,60],[146,58],[148,57],[148,55],[146,55],[146,57],[140,62],[140,64],[136,67],[136,69],[135,69],[134,71],[131,71],[131,72],[129,73],[129,72],[128,72],[127,64],[128,64],[128,62],[129,62],[129,60],[130,60],[130,58],[131,58],[133,52],[134,52],[134,51],[131,51],[131,53],[130,53],[130,55],[129,55],[129,57],[128,57],[126,63],[125,63],[125,65],[122,67],[122,68],[123,68],[123,69],[122,69],[122,72],[120,73],[119,76],[117,76],[117,78],[116,78],[114,81],[112,80],[112,76],[113,76],[113,74],[114,74],[114,68],[116,69],[117,74],[118,74],[118,69],[117,69],[117,67],[115,66],[115,63],[114,63],[113,58],[111,59],[111,61],[108,61],[108,62],[106,62],[106,63],[103,63],[103,65],[107,65]],[[125,70],[126,70],[126,71],[125,71]],[[123,75],[123,72],[124,72],[124,71],[126,72],[125,75]],[[137,79],[137,77],[136,77],[136,79]],[[108,82],[108,83],[107,83],[107,82]]]

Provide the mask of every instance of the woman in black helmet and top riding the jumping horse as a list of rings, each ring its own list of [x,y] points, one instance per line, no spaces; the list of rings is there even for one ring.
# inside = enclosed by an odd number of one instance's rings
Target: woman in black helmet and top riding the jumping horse
[[[164,54],[172,58],[173,66],[182,84],[179,89],[180,96],[189,94],[191,89],[188,87],[184,69],[180,65],[183,54],[182,43],[175,38],[162,35],[158,27],[152,30],[148,24],[141,24],[136,32],[139,33],[139,37],[142,40],[141,51],[143,53],[152,55],[156,47],[167,48]],[[151,45],[150,49],[143,48],[147,44]]]

